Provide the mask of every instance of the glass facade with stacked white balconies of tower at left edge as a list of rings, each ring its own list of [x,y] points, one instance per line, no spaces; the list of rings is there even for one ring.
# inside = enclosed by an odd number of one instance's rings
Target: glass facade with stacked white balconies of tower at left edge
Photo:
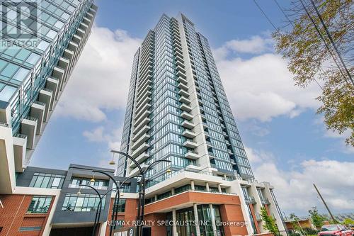
[[[93,0],[0,6],[0,193],[11,193],[86,44],[97,7]]]

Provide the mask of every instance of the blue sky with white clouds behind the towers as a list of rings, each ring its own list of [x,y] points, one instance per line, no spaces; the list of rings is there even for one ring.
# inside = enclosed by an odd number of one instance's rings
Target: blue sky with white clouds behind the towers
[[[120,143],[132,55],[162,13],[181,11],[208,38],[256,179],[275,186],[280,207],[299,215],[307,215],[311,206],[324,212],[315,182],[334,212],[354,209],[353,148],[326,131],[316,115],[319,88],[293,86],[286,62],[273,50],[273,27],[253,1],[96,4],[96,26],[31,165],[107,164],[110,148]],[[282,26],[275,1],[258,4],[275,26]]]

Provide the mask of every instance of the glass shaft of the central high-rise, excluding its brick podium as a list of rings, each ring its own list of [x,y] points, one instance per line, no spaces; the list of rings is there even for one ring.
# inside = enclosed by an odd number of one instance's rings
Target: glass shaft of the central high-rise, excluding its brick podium
[[[209,43],[184,16],[163,16],[135,54],[121,151],[143,167],[169,159],[173,172],[253,178]],[[149,171],[149,186],[166,177],[168,165]],[[118,174],[136,173],[122,158]]]

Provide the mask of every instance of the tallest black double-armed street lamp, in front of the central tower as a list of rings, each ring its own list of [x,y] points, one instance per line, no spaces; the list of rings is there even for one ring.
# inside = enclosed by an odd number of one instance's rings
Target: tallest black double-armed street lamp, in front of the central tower
[[[146,169],[142,169],[142,167],[140,166],[139,162],[137,162],[133,157],[131,157],[129,154],[126,154],[125,152],[120,152],[120,151],[115,151],[115,150],[111,150],[110,152],[113,153],[118,153],[121,154],[127,158],[129,158],[132,162],[134,162],[134,164],[137,166],[137,168],[139,169],[140,175],[142,177],[141,181],[140,181],[140,188],[139,188],[139,203],[138,203],[138,215],[139,215],[139,225],[138,225],[138,236],[142,236],[142,222],[144,221],[144,207],[145,207],[145,174],[147,173],[147,171],[154,166],[155,164],[159,163],[159,162],[171,162],[170,160],[166,160],[166,159],[159,159],[156,160],[154,162],[152,162],[151,164],[149,164],[149,166]],[[110,164],[115,164],[114,160],[112,160],[110,162]],[[170,171],[171,172],[171,171]],[[141,210],[140,210],[141,209]]]

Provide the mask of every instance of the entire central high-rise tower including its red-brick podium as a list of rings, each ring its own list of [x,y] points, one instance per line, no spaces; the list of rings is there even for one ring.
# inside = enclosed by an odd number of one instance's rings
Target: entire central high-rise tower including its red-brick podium
[[[120,151],[143,169],[171,161],[147,170],[147,219],[212,222],[152,227],[152,235],[266,233],[261,207],[285,230],[273,187],[253,176],[207,38],[183,14],[161,16],[135,53]],[[117,173],[139,169],[120,156]]]

